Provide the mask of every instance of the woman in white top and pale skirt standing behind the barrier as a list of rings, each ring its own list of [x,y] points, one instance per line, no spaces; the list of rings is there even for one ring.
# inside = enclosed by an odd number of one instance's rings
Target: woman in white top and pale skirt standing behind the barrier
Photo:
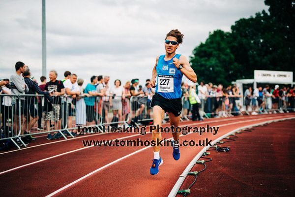
[[[110,93],[113,96],[110,99],[110,105],[113,109],[113,115],[114,117],[116,117],[118,113],[118,121],[122,121],[122,99],[125,99],[125,97],[124,88],[121,86],[120,80],[115,80],[115,87],[111,89]]]

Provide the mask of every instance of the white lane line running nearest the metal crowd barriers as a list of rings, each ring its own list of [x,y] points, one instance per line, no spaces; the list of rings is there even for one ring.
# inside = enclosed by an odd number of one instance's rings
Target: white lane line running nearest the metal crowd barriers
[[[195,123],[195,125],[201,125],[201,124],[207,124],[207,123],[216,123],[216,122],[222,122],[222,121],[229,121],[229,120],[240,120],[240,119],[250,119],[251,116],[247,116],[247,117],[239,117],[239,118],[228,118],[228,119],[217,119],[214,121],[207,121],[207,122],[199,122],[199,123]],[[252,116],[253,118],[253,116]],[[189,122],[189,121],[187,121]],[[164,126],[164,125],[163,125]],[[12,152],[16,152],[16,151],[22,151],[22,150],[26,150],[29,148],[35,148],[35,147],[39,147],[39,146],[45,146],[45,145],[50,145],[50,144],[55,144],[55,143],[59,143],[59,142],[64,142],[64,141],[68,141],[68,140],[74,140],[74,139],[80,139],[80,138],[84,138],[84,137],[91,137],[91,136],[95,136],[95,135],[101,135],[101,134],[107,134],[106,133],[96,133],[96,134],[91,134],[91,135],[86,135],[86,136],[81,136],[81,137],[75,137],[75,138],[68,138],[68,139],[63,139],[63,140],[59,140],[59,141],[55,141],[55,142],[48,142],[48,143],[44,143],[44,144],[38,144],[38,145],[34,145],[34,146],[28,146],[26,148],[22,148],[22,149],[16,149],[16,150],[12,150],[12,151],[7,151],[4,153],[0,153],[0,155],[3,154],[7,154],[7,153],[12,153]]]

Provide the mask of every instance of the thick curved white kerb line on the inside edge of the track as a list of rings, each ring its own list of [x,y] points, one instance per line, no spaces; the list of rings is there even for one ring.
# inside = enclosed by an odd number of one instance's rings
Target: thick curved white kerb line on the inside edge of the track
[[[249,129],[252,127],[257,127],[260,125],[264,125],[267,123],[273,123],[273,122],[277,122],[277,121],[281,121],[281,120],[290,120],[290,119],[294,119],[295,117],[291,117],[291,118],[282,118],[282,119],[274,119],[274,120],[269,120],[269,121],[265,121],[262,123],[257,123],[257,124],[253,124],[253,125],[248,125],[248,126],[244,126],[241,128],[237,128],[233,131],[229,131],[226,134],[220,136],[219,138],[215,139],[212,141],[212,144],[216,144],[218,141],[224,139],[225,137],[235,133],[236,131],[240,131],[242,129]],[[196,162],[202,157],[203,153],[207,151],[207,149],[210,147],[204,147],[197,155],[196,157],[187,165],[187,167],[183,170],[183,172],[179,175],[179,178],[177,180],[177,182],[175,183],[174,187],[172,188],[172,190],[170,191],[168,197],[175,197],[177,195],[177,191],[179,190],[179,188],[181,187],[183,181],[185,180],[185,178],[187,177],[188,172],[192,169],[192,167],[196,164]]]

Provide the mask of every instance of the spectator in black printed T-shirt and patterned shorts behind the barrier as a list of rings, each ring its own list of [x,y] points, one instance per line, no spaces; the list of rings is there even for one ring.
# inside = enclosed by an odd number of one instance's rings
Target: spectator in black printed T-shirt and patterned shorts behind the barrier
[[[60,120],[60,107],[61,107],[61,96],[64,95],[64,86],[63,83],[57,80],[58,73],[55,70],[51,70],[49,72],[49,79],[50,81],[45,84],[45,91],[48,91],[52,99],[52,111],[45,111],[45,118],[46,121],[46,129],[50,130],[50,123],[51,121],[55,122],[55,130],[61,129],[61,120]],[[58,124],[57,124],[58,123]],[[60,137],[59,132],[55,132],[54,136],[51,133],[48,133],[47,139],[58,139]]]

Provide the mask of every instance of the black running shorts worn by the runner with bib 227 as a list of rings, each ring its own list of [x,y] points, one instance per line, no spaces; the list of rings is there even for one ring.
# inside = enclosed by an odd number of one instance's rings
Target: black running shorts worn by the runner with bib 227
[[[173,113],[175,116],[179,116],[182,110],[181,98],[178,99],[166,99],[159,94],[155,94],[150,102],[150,107],[160,106],[165,112]]]

